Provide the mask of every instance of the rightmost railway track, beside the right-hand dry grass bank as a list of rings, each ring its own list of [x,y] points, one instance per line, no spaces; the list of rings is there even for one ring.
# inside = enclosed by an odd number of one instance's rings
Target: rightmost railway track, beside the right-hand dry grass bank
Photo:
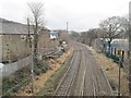
[[[97,65],[92,52],[87,49],[88,64],[92,71],[93,96],[114,96],[111,86],[103,70]]]

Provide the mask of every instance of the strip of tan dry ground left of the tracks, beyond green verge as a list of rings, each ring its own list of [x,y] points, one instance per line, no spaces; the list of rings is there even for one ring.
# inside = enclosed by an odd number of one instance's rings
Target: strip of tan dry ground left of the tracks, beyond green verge
[[[72,48],[70,48],[66,53],[60,56],[60,58],[53,60],[48,60],[49,65],[51,66],[51,70],[48,70],[46,73],[40,74],[38,76],[35,76],[35,94],[40,90],[40,88],[44,87],[45,83],[50,78],[50,76],[60,69],[60,66],[64,63],[66,59],[71,54],[73,51]],[[33,96],[31,90],[31,83],[21,87],[20,90],[15,94],[16,96]]]

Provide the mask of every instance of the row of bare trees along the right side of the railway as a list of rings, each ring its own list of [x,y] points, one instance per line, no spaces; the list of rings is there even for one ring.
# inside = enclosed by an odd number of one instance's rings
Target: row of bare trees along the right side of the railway
[[[129,20],[122,16],[111,16],[99,23],[98,28],[91,28],[81,33],[81,42],[93,46],[96,38],[107,40],[109,49],[110,42],[116,38],[128,38]]]

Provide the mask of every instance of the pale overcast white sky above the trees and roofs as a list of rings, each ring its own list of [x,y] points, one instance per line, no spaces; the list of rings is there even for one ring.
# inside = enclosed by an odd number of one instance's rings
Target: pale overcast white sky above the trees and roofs
[[[50,29],[87,30],[114,15],[127,15],[130,0],[0,0],[0,17],[25,23],[27,2],[43,2]]]

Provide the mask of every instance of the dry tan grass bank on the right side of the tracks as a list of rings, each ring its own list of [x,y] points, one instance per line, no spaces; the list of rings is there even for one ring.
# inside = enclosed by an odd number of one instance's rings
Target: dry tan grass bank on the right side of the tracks
[[[119,71],[119,65],[115,63],[111,59],[108,59],[105,57],[103,53],[97,53],[94,49],[91,49],[92,53],[94,54],[96,62],[103,71],[106,73],[108,79],[110,83],[114,84],[115,88],[118,89],[118,71]],[[128,87],[128,74],[121,69],[121,94],[123,96],[128,96],[129,87]]]

